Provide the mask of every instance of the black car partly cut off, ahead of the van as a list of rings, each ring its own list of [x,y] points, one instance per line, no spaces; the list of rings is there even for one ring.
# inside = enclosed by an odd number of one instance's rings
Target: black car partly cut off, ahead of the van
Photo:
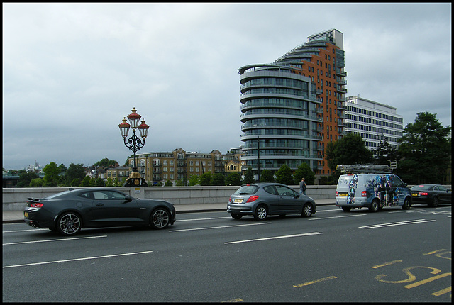
[[[451,189],[439,184],[423,184],[411,187],[411,201],[414,204],[428,204],[436,207],[440,203],[451,202]]]

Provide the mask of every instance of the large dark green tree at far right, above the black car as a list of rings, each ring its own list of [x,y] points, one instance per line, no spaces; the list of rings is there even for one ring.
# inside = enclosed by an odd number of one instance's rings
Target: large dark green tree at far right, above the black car
[[[397,174],[408,184],[442,184],[451,166],[451,127],[433,113],[417,113],[399,139]]]

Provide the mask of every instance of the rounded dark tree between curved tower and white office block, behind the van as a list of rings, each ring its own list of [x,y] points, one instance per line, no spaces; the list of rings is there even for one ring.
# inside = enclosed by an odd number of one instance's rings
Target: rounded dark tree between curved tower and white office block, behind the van
[[[365,164],[372,162],[372,152],[367,149],[360,135],[347,133],[336,142],[328,143],[325,157],[334,172],[341,164]]]

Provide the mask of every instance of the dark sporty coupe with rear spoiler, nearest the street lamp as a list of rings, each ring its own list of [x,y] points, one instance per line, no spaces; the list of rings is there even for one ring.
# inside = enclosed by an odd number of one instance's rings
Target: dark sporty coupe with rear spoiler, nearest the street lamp
[[[175,222],[175,207],[167,201],[133,198],[114,189],[69,189],[43,199],[28,198],[23,216],[29,226],[75,235],[81,228],[167,228]]]

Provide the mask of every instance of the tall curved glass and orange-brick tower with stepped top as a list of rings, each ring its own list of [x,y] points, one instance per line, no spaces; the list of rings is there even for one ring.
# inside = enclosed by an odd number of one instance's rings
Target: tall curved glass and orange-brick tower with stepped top
[[[271,64],[240,67],[243,168],[258,174],[306,162],[329,174],[323,150],[343,134],[343,66],[343,34],[333,29]]]

